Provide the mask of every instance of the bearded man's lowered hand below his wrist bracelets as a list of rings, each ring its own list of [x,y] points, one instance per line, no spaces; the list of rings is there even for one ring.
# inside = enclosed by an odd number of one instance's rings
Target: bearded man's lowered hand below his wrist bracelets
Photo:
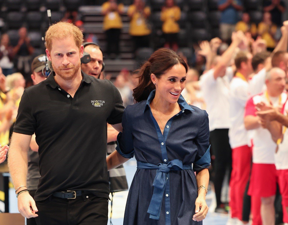
[[[19,192],[19,191],[18,191]],[[36,207],[34,199],[29,192],[23,192],[18,196],[18,210],[22,216],[27,219],[37,217],[38,209]]]

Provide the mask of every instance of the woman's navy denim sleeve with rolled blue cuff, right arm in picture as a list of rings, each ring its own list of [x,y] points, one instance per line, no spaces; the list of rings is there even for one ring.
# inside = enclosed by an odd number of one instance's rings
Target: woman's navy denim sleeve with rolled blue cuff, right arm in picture
[[[200,131],[196,137],[195,144],[198,148],[195,162],[193,163],[193,170],[200,171],[210,166],[210,144],[209,144],[209,119],[208,114],[203,110],[204,118],[200,127]]]

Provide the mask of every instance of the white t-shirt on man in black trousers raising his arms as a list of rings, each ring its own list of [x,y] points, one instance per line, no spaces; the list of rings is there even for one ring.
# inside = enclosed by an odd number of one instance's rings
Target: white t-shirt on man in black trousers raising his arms
[[[229,85],[233,78],[233,69],[228,67],[223,77],[214,78],[214,69],[200,77],[200,88],[206,102],[209,115],[209,129],[229,129]]]

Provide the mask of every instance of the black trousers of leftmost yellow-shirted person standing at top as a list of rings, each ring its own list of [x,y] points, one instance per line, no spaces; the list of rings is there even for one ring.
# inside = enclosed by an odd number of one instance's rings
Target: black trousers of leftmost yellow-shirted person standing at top
[[[120,41],[120,33],[121,29],[109,29],[106,30],[106,41],[107,47],[106,52],[108,55],[111,53],[115,53],[117,56],[119,55],[119,41]]]

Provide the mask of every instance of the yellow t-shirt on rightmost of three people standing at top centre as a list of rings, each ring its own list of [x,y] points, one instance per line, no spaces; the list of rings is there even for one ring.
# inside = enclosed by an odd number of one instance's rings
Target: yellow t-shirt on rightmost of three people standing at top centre
[[[181,10],[178,6],[166,8],[161,11],[161,20],[163,21],[162,31],[166,34],[178,33],[180,28],[176,22],[181,17]]]

